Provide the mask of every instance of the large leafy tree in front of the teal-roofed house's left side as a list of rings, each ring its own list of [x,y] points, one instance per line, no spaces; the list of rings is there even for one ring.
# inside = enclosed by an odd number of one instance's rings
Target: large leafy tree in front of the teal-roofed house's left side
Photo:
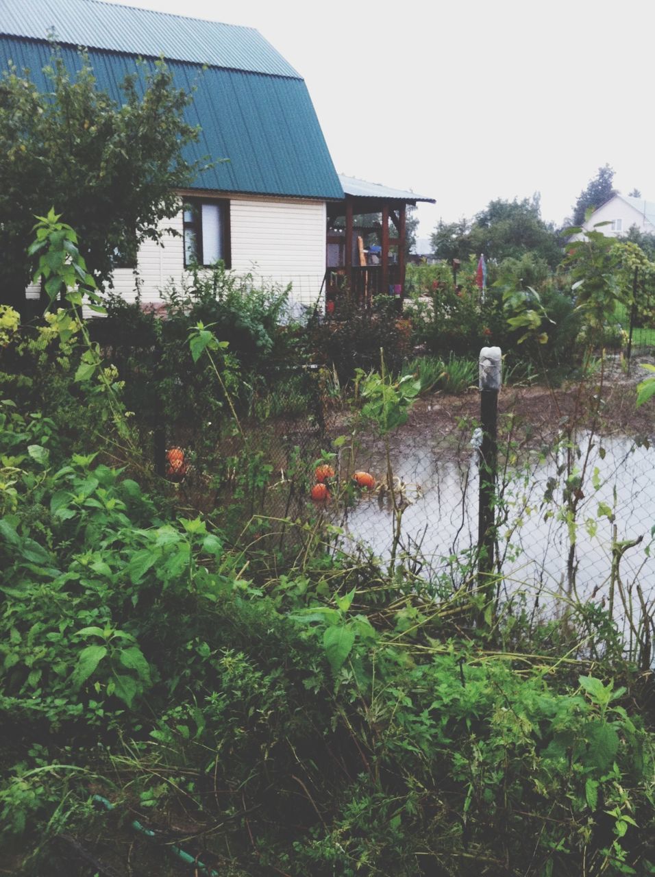
[[[160,221],[178,210],[174,189],[199,170],[182,153],[197,138],[182,115],[191,98],[163,61],[125,77],[121,105],[80,61],[69,75],[55,46],[47,94],[15,67],[0,79],[0,301],[18,310],[35,215],[54,207],[79,232],[89,271],[110,283],[118,260],[135,265],[139,244],[160,239]]]

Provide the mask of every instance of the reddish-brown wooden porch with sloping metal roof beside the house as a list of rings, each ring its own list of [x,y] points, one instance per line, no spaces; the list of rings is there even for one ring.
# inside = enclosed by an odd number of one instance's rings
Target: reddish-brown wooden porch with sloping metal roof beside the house
[[[338,309],[344,296],[368,308],[380,295],[395,296],[401,307],[407,207],[434,198],[349,176],[339,181],[345,199],[327,204],[326,309]]]

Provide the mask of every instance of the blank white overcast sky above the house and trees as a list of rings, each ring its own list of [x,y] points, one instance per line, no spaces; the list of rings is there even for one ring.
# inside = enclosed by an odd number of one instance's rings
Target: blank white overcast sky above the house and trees
[[[606,162],[655,201],[653,0],[121,2],[255,27],[303,75],[339,173],[437,199],[420,237],[534,192],[559,224]]]

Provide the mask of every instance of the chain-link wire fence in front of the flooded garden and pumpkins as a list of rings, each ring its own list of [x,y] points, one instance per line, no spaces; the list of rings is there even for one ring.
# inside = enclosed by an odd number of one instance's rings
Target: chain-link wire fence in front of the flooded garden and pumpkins
[[[154,454],[159,430],[162,447],[185,449],[182,498],[216,512],[234,538],[249,528],[262,547],[281,550],[297,524],[330,524],[333,548],[383,565],[402,560],[435,593],[470,584],[479,540],[478,393],[421,397],[385,437],[362,419],[360,404],[345,401],[334,371],[281,363],[240,394],[239,432],[225,406],[213,424],[167,419],[149,392],[154,354],[129,365],[121,374],[143,384],[146,446]],[[623,375],[615,365],[612,379]],[[632,410],[634,382],[614,389]],[[637,424],[639,438],[612,410],[601,417],[600,403],[594,416],[576,412],[576,393],[502,392],[493,568],[505,593],[530,589],[545,610],[569,599],[604,604],[630,636],[631,615],[644,606],[652,615],[655,602],[655,450],[647,420],[645,430]],[[321,461],[334,474],[317,502]],[[370,474],[374,489],[359,488],[356,471]]]

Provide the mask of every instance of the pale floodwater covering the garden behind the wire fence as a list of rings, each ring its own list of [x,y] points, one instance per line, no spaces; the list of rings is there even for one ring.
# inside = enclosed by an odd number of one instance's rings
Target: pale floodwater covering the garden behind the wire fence
[[[496,521],[504,579],[509,587],[528,584],[545,594],[571,592],[580,599],[602,599],[613,575],[616,580],[621,553],[618,574],[626,593],[633,593],[638,583],[652,600],[655,449],[625,438],[590,443],[588,436],[580,437],[580,447],[574,467],[566,468],[564,454],[550,455],[529,459],[520,470],[514,464],[513,473],[499,476],[502,503]],[[381,458],[369,463],[378,473],[384,470]],[[401,447],[394,453],[393,470],[409,503],[402,516],[402,548],[420,554],[424,575],[451,572],[452,558],[477,543],[476,452],[472,448],[467,459],[458,462],[433,446]],[[571,491],[577,491],[577,508],[574,518],[567,520],[568,475]],[[363,542],[382,560],[388,559],[393,538],[388,497],[362,497],[341,523],[351,543]],[[633,596],[637,600],[636,593]]]

